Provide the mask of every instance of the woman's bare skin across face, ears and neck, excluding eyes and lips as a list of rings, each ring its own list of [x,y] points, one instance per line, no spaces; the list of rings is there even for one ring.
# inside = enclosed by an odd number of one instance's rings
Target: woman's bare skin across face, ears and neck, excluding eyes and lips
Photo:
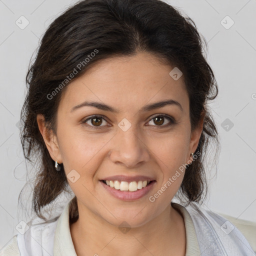
[[[192,159],[202,131],[203,119],[191,131],[189,98],[183,77],[174,80],[174,68],[147,52],[134,56],[111,57],[71,81],[64,91],[57,112],[56,134],[45,128],[41,115],[38,127],[51,158],[63,163],[66,175],[71,170],[80,177],[68,183],[77,197],[78,220],[70,225],[77,255],[185,255],[185,227],[182,215],[170,205],[184,172],[154,201],[148,197],[163,186],[182,164]],[[147,112],[144,105],[173,99]],[[83,106],[85,100],[117,108],[118,113]],[[103,115],[99,126],[92,115]],[[167,114],[159,124],[153,117]],[[118,123],[126,118],[127,131]],[[94,125],[94,126],[93,126]],[[93,128],[95,127],[95,128]],[[76,173],[75,172],[75,173]],[[148,194],[133,201],[110,195],[100,179],[111,175],[148,175],[156,180]],[[131,227],[123,233],[123,221]]]

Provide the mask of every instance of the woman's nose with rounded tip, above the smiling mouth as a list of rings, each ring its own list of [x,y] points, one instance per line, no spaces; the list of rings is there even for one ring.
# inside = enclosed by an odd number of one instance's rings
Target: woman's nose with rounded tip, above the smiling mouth
[[[110,160],[126,168],[137,167],[150,158],[150,150],[145,143],[141,132],[136,132],[132,126],[126,131],[119,129],[113,137]]]

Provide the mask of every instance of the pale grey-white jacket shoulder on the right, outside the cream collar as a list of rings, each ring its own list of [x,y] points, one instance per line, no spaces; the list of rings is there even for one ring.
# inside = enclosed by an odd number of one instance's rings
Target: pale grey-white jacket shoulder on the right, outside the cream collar
[[[252,246],[231,220],[194,202],[179,207],[190,215],[200,250],[205,251],[205,255],[254,255]],[[255,232],[255,226],[252,228]]]

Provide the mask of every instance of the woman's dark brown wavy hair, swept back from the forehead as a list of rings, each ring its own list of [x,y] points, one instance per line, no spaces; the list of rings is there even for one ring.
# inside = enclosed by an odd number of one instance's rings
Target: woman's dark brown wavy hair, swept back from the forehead
[[[59,84],[73,72],[82,75],[88,67],[111,56],[135,55],[139,51],[155,54],[159,60],[178,67],[189,95],[191,129],[205,112],[203,130],[196,151],[198,157],[187,166],[179,193],[200,202],[206,195],[205,168],[202,163],[208,142],[218,144],[217,130],[207,101],[218,93],[214,74],[203,56],[203,42],[194,22],[161,0],[82,0],[58,16],[44,33],[35,60],[26,75],[28,92],[21,110],[21,143],[25,158],[38,164],[33,187],[33,210],[46,220],[41,209],[51,203],[68,182],[63,169],[56,171],[39,132],[36,115],[42,114],[49,129],[56,131],[56,112],[67,82],[54,97]],[[97,49],[87,63],[85,57]],[[77,64],[83,61],[78,70]],[[62,165],[61,165],[62,166]],[[63,166],[62,166],[63,168]],[[72,221],[78,217],[76,197],[72,199]]]

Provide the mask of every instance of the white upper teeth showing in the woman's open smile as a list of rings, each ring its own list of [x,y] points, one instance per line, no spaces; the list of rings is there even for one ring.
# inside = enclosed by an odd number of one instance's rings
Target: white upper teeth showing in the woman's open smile
[[[119,180],[100,180],[107,186],[110,186],[116,190],[120,191],[136,191],[139,189],[142,189],[146,187],[148,184],[155,182],[155,180],[139,180],[138,182],[136,181],[119,181]]]

